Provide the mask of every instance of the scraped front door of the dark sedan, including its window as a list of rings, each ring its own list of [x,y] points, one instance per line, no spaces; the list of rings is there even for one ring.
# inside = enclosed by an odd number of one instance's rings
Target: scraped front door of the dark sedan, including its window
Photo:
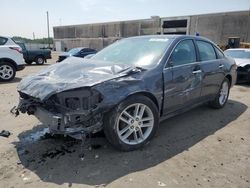
[[[174,48],[163,75],[165,114],[199,100],[202,72],[192,39],[182,40]]]

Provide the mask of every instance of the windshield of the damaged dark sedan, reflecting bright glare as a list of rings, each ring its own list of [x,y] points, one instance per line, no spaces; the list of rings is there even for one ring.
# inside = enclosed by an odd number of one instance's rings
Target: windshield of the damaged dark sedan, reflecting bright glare
[[[142,68],[155,66],[171,43],[170,38],[122,39],[101,50],[91,59]]]

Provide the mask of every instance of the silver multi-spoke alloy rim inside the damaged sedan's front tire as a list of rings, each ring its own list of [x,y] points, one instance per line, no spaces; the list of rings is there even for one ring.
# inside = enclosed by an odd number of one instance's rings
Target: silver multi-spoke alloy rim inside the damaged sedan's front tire
[[[149,137],[153,126],[154,115],[151,109],[145,104],[135,103],[121,112],[116,129],[122,142],[135,145]]]

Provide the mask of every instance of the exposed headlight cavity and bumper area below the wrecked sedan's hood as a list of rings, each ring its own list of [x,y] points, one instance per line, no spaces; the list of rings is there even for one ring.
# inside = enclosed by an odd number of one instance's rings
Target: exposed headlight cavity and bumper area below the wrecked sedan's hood
[[[17,110],[34,115],[54,134],[79,137],[102,129],[102,95],[91,88],[64,91],[41,101],[20,92]]]

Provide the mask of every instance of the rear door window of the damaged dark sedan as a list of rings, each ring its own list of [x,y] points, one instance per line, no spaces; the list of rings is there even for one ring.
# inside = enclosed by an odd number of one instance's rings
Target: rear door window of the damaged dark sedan
[[[216,59],[216,54],[212,44],[205,41],[197,41],[198,50],[201,61],[209,61]]]

